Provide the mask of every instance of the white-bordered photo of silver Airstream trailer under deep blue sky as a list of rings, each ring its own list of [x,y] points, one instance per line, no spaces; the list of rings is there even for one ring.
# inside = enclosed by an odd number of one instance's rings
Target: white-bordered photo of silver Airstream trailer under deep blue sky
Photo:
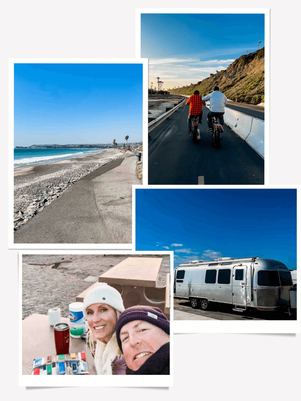
[[[299,190],[135,188],[135,250],[174,252],[175,332],[296,332]]]

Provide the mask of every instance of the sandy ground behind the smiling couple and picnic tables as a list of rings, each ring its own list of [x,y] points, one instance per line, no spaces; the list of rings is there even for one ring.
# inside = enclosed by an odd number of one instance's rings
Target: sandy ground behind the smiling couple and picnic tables
[[[156,286],[166,286],[169,255],[23,255],[22,319],[33,313],[47,315],[48,309],[55,306],[67,318],[69,304],[76,296],[129,256],[162,257]]]

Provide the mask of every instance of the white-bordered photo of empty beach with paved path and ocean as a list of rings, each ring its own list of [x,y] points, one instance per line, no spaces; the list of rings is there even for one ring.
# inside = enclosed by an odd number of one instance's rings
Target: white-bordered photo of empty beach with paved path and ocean
[[[10,62],[12,247],[130,248],[145,61]]]

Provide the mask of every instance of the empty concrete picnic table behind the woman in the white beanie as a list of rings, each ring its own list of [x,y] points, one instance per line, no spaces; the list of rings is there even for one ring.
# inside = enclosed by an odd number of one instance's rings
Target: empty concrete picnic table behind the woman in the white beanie
[[[98,282],[116,288],[122,296],[124,308],[148,305],[160,308],[164,313],[166,287],[156,287],[161,264],[161,257],[128,257],[102,274]],[[87,292],[96,285],[79,294],[76,302],[83,302]]]

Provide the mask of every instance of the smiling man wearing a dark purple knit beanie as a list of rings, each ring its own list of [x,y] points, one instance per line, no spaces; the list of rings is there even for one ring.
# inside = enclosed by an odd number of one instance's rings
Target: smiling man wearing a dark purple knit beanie
[[[159,308],[132,306],[116,324],[126,375],[169,375],[169,321]]]

